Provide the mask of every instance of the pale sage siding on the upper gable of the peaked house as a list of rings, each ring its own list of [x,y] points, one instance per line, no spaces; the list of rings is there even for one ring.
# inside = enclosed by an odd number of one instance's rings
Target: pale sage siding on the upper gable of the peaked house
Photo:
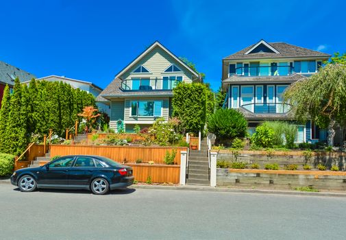
[[[177,67],[182,70],[182,73],[162,73],[169,65],[175,64]],[[151,73],[132,73],[138,66],[144,65]],[[192,82],[192,73],[184,65],[177,62],[174,58],[172,58],[168,53],[163,51],[160,47],[155,47],[146,56],[144,56],[134,67],[130,68],[126,71],[122,78],[123,80],[129,80],[132,77],[150,77],[150,84],[152,87],[155,86],[155,80],[157,81],[157,89],[162,89],[162,77],[169,75],[182,75],[184,82]],[[131,82],[129,83],[131,85]],[[132,86],[129,86],[132,87]]]

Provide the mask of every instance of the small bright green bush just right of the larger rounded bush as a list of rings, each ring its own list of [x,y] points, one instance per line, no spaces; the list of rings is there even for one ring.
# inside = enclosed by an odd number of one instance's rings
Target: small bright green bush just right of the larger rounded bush
[[[266,123],[259,125],[251,136],[251,143],[259,147],[272,147],[274,143],[274,130]]]

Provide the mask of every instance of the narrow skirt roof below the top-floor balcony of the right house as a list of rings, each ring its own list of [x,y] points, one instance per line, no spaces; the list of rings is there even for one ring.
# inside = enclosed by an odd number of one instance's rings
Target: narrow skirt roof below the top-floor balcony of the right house
[[[223,84],[260,84],[260,83],[293,83],[305,78],[306,76],[299,73],[294,73],[293,75],[288,76],[262,76],[262,77],[246,77],[239,75],[232,75],[225,80]]]

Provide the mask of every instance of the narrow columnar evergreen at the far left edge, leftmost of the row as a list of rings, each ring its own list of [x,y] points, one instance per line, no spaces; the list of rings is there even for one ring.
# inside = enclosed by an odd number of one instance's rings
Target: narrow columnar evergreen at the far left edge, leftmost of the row
[[[8,117],[10,115],[10,101],[10,88],[6,85],[3,91],[0,110],[0,152],[8,152],[9,149],[8,144],[10,143],[10,139],[6,134],[6,129],[8,126]]]

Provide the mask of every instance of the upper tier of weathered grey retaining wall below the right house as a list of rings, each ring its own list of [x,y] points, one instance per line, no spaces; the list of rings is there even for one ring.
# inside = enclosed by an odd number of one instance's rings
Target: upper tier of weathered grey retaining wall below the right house
[[[283,168],[288,164],[299,165],[301,168],[304,164],[309,164],[312,167],[316,167],[319,163],[326,165],[328,169],[332,167],[332,165],[337,165],[341,171],[346,170],[346,153],[343,152],[316,152],[313,153],[314,156],[308,161],[303,156],[303,152],[273,152],[272,156],[267,156],[267,152],[265,151],[240,151],[239,161],[248,163],[249,165],[252,163],[258,163],[261,168],[264,165],[270,163],[277,163]],[[229,150],[220,150],[217,155],[217,160],[234,160],[232,156],[232,152]]]

